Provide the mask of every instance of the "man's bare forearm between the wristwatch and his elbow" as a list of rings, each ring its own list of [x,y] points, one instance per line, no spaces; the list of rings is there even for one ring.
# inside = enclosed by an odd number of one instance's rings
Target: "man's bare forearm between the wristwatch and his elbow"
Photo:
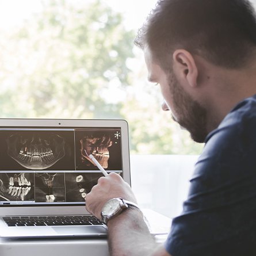
[[[110,255],[154,255],[156,243],[152,238],[142,212],[129,208],[108,221]]]

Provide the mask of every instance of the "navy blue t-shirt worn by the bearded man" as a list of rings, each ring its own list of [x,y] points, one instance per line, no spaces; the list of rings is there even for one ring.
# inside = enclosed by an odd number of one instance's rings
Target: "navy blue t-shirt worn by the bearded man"
[[[207,136],[165,248],[172,256],[256,255],[256,95]]]

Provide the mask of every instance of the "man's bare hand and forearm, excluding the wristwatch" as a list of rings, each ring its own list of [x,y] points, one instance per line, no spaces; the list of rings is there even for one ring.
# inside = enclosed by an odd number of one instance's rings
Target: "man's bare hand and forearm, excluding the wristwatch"
[[[115,197],[136,202],[130,186],[120,175],[111,173],[108,177],[100,178],[98,184],[87,194],[86,209],[101,219],[103,205]],[[108,221],[108,239],[112,256],[170,256],[163,246],[156,244],[144,222],[142,212],[135,207],[128,208]]]

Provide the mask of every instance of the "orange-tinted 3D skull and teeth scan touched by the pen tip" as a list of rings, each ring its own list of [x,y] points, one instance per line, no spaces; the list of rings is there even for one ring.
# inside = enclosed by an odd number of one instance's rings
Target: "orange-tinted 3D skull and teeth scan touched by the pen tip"
[[[106,170],[122,170],[120,130],[75,131],[77,170],[98,170],[89,155]]]

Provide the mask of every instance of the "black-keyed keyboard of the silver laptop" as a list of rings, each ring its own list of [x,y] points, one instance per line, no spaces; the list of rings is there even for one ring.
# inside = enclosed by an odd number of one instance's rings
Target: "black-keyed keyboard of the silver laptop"
[[[86,216],[12,216],[3,217],[9,227],[18,226],[74,226],[102,225],[102,221],[92,215]]]

